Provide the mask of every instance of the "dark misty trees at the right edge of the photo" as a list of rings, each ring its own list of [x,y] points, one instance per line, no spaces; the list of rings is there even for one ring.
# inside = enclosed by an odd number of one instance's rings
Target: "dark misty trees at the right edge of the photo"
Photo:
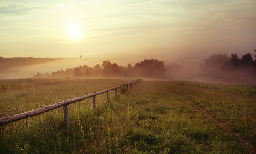
[[[213,54],[204,60],[204,64],[200,64],[198,76],[206,81],[255,85],[256,59],[253,60],[250,53],[241,58],[234,53],[230,57],[227,54]]]

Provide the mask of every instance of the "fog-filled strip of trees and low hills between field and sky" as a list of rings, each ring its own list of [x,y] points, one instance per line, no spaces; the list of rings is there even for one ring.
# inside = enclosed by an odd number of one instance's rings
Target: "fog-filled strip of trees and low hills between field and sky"
[[[144,61],[136,59],[83,58],[37,59],[32,57],[7,60],[6,62],[1,61],[0,79],[27,77],[140,77],[150,80],[256,84],[256,61],[253,61],[250,53],[243,55],[242,58],[237,57],[236,54],[219,53],[212,54],[205,59],[186,57],[165,61],[157,59],[145,59]],[[12,61],[10,62],[10,60]]]

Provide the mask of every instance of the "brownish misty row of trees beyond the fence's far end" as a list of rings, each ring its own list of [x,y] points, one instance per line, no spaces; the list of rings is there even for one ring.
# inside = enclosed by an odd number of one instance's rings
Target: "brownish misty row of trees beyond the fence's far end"
[[[164,62],[157,59],[144,59],[135,66],[128,64],[127,66],[119,66],[110,61],[103,61],[94,67],[87,65],[67,68],[66,70],[57,70],[56,72],[39,73],[33,77],[164,77]]]

